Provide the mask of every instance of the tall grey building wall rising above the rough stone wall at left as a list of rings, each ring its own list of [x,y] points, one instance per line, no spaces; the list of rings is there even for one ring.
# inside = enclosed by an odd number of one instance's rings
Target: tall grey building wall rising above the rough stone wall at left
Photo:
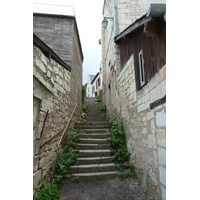
[[[72,112],[77,105],[72,118],[75,121],[82,110],[83,62],[76,19],[73,16],[34,13],[33,32],[71,67],[70,110]]]

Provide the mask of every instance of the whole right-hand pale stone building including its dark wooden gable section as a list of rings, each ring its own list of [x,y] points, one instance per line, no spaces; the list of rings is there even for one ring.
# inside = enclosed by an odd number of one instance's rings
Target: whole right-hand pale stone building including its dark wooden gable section
[[[153,199],[166,199],[165,10],[164,1],[105,0],[103,6],[103,102],[109,116],[121,117],[130,161]]]

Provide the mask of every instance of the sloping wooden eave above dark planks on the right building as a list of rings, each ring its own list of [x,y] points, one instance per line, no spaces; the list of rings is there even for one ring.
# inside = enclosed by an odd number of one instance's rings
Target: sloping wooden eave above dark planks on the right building
[[[114,37],[114,42],[118,43],[121,39],[124,39],[132,32],[136,31],[138,28],[145,25],[147,22],[151,21],[151,17],[147,17],[146,14],[143,15],[141,18],[137,19],[134,23],[128,26],[124,31]]]

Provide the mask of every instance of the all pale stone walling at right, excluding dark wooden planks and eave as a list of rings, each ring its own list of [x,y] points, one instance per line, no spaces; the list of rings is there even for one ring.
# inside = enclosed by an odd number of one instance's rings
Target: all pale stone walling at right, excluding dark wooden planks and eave
[[[147,13],[150,3],[164,0],[118,0],[119,33]],[[143,190],[154,199],[166,199],[166,104],[154,108],[150,104],[166,95],[166,66],[140,90],[136,88],[134,55],[124,68],[120,67],[120,48],[114,43],[116,19],[114,0],[105,1],[104,16],[108,20],[102,29],[103,102],[107,114],[115,112],[122,118],[130,160],[138,169]]]

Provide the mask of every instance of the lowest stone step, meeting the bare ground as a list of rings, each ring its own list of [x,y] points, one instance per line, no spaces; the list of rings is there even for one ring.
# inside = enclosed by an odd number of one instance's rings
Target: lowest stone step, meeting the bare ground
[[[64,176],[64,178],[74,178],[79,177],[80,181],[91,181],[91,180],[102,180],[102,179],[110,179],[118,176],[117,171],[110,172],[93,172],[93,173],[75,173],[71,174],[71,176]]]

